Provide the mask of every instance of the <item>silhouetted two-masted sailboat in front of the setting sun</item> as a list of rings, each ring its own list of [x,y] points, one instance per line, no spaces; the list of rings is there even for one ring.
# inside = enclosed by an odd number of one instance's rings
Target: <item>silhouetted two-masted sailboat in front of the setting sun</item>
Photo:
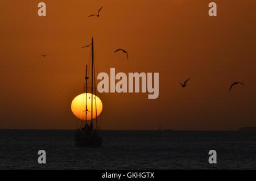
[[[95,71],[94,71],[94,52],[93,52],[93,38],[92,38],[92,77],[91,77],[91,92],[92,95],[95,95],[95,99],[91,98],[90,100],[92,101],[91,103],[91,110],[88,111],[87,108],[87,96],[85,96],[85,125],[84,123],[80,124],[80,128],[76,129],[75,133],[75,146],[85,146],[85,147],[100,147],[102,145],[102,138],[99,136],[100,129],[98,128],[98,121],[97,121],[97,106],[96,106],[96,88],[93,91],[93,87],[96,87],[95,83]],[[87,81],[89,77],[87,75],[87,65],[86,65],[86,70],[85,70],[85,86],[84,86],[84,91],[85,94],[88,92],[88,87],[87,87]],[[93,82],[94,81],[94,82]],[[94,83],[94,84],[93,84]],[[94,86],[93,86],[94,85]],[[93,100],[95,101],[95,112],[96,112],[96,125],[93,123]],[[87,113],[90,113],[91,115],[91,120],[90,124],[88,124],[87,120]]]

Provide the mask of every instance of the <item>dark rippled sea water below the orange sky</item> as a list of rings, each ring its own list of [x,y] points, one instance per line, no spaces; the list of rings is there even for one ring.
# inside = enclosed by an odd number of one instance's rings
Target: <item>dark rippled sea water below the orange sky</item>
[[[256,169],[256,132],[101,131],[101,148],[76,148],[74,134],[2,130],[0,169]]]

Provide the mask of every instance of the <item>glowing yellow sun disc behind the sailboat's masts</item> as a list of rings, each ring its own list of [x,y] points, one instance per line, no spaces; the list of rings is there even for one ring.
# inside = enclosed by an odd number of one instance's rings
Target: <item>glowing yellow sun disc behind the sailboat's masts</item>
[[[71,110],[73,114],[80,120],[85,120],[85,102],[86,102],[86,95],[87,95],[87,120],[91,120],[91,110],[92,110],[92,99],[93,99],[93,119],[96,118],[96,108],[97,108],[97,117],[102,112],[102,102],[101,99],[98,98],[98,96],[90,93],[83,93],[80,95],[77,95],[72,103],[71,103]],[[96,103],[96,104],[95,104]]]

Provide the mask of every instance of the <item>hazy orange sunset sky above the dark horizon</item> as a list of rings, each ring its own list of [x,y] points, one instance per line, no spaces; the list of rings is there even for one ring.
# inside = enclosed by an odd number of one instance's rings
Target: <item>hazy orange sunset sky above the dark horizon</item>
[[[159,72],[158,99],[99,94],[101,129],[256,126],[254,0],[214,1],[214,18],[203,0],[43,0],[46,18],[39,2],[0,1],[0,129],[75,129],[71,102],[89,55],[81,47],[92,36],[97,73]],[[87,18],[101,6],[100,18]],[[246,86],[229,93],[234,81]]]

